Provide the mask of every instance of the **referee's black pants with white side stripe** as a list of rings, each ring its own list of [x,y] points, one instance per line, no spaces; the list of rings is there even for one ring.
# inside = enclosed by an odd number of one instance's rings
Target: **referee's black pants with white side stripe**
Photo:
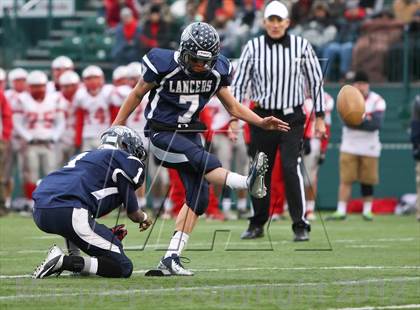
[[[251,126],[250,155],[264,152],[268,156],[268,172],[265,175],[267,195],[262,199],[252,198],[254,216],[250,218],[250,227],[263,226],[270,216],[271,174],[276,152],[280,148],[283,178],[289,213],[293,224],[305,222],[305,191],[300,170],[301,145],[305,126],[305,114],[302,108],[295,108],[293,113],[284,115],[282,111],[254,109],[261,117],[275,116],[289,123],[288,132],[263,130]],[[303,223],[302,223],[303,224]]]

